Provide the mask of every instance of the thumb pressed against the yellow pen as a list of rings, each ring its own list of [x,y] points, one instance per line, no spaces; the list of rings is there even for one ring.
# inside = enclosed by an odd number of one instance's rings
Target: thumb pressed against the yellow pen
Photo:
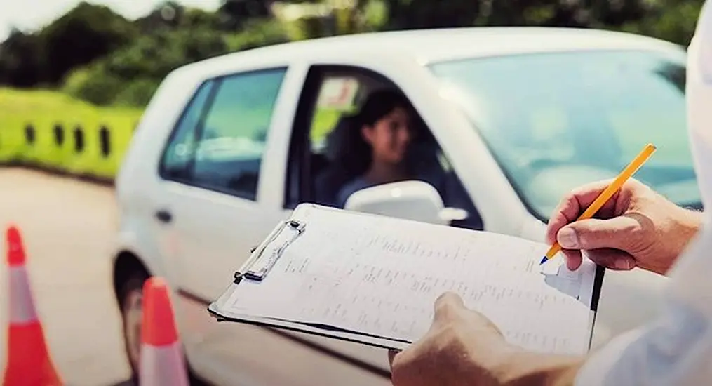
[[[612,219],[585,219],[562,227],[556,241],[563,249],[614,248],[627,250],[631,233],[639,229],[636,219],[627,216]]]

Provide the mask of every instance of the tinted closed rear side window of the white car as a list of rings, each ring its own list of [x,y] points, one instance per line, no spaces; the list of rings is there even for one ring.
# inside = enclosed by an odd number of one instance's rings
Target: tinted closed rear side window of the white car
[[[167,147],[166,177],[256,199],[267,131],[285,74],[286,68],[239,73],[216,80],[212,93],[206,87],[205,97],[199,90]],[[207,106],[202,98],[209,99]],[[193,115],[200,105],[203,112]]]

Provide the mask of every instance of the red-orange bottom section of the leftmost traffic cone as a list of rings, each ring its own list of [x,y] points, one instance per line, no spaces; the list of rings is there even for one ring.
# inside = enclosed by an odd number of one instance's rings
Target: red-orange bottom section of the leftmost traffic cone
[[[10,325],[3,386],[62,386],[39,323]]]

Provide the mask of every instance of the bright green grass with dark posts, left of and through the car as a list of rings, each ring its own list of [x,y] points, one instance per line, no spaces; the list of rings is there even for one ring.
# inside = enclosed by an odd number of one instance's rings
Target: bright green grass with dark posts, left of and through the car
[[[141,114],[137,108],[100,108],[56,91],[0,88],[0,163],[21,162],[112,179]],[[323,139],[340,114],[337,110],[318,110],[310,130],[312,140]],[[28,125],[36,132],[32,144],[26,140]],[[56,125],[63,129],[61,145],[56,142]],[[107,157],[100,147],[103,126],[110,132]],[[75,150],[76,128],[84,134],[84,148],[80,151]]]

